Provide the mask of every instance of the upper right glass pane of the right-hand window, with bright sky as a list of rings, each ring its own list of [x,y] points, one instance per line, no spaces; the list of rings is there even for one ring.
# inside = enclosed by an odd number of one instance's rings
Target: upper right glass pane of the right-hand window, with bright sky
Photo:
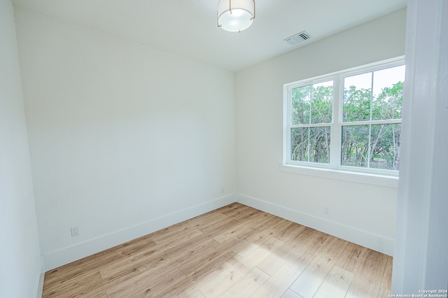
[[[373,73],[372,120],[400,119],[405,66]]]

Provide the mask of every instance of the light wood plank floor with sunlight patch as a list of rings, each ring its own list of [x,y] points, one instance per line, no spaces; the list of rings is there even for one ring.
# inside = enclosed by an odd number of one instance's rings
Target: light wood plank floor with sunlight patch
[[[392,257],[241,204],[45,274],[43,297],[388,297]]]

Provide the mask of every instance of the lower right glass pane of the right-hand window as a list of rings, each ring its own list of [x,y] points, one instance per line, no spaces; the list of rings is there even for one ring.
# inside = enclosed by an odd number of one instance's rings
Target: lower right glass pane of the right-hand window
[[[401,125],[372,125],[370,168],[398,170]]]

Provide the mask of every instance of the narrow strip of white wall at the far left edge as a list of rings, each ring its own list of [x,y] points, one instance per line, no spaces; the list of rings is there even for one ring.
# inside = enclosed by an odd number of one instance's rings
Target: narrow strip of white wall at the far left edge
[[[14,11],[0,0],[0,296],[36,297],[41,269]]]

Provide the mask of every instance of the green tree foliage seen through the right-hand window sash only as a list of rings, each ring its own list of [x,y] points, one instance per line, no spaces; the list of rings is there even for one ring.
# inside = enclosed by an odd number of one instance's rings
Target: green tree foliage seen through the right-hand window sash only
[[[384,87],[377,97],[371,90],[350,86],[344,90],[344,122],[400,119],[403,83]],[[401,125],[352,125],[342,128],[341,163],[398,170]]]

